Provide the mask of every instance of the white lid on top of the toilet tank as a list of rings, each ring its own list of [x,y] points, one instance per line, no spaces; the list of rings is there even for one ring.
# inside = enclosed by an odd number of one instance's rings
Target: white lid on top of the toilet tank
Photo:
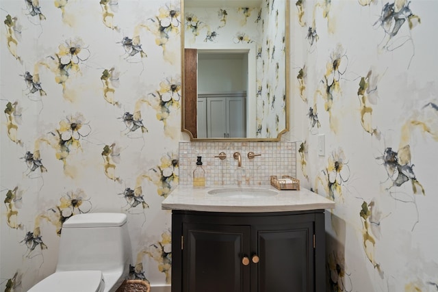
[[[124,213],[82,213],[68,218],[62,228],[116,227],[127,222]]]

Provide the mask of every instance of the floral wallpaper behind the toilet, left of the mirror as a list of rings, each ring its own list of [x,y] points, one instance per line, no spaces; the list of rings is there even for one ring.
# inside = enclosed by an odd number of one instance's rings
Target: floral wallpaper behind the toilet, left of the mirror
[[[0,3],[1,291],[55,269],[62,224],[128,215],[130,278],[170,284],[181,3]],[[86,248],[86,247],[80,247]]]

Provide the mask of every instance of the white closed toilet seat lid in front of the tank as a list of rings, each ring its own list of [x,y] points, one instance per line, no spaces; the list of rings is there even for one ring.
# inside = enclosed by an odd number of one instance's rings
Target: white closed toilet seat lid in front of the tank
[[[57,271],[28,292],[101,292],[104,287],[101,271]]]

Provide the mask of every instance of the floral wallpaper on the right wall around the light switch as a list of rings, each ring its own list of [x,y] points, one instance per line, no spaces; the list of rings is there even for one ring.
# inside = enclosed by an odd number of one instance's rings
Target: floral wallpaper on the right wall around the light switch
[[[298,178],[336,202],[327,291],[438,291],[438,2],[294,4]]]

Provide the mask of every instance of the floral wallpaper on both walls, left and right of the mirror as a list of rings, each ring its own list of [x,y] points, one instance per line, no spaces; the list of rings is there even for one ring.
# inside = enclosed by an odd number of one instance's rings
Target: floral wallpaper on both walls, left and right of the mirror
[[[170,282],[160,204],[179,183],[180,5],[0,2],[2,291],[51,274],[62,222],[90,211],[127,213],[130,277]],[[336,202],[328,291],[438,290],[436,11],[291,2],[288,136],[302,187]]]

